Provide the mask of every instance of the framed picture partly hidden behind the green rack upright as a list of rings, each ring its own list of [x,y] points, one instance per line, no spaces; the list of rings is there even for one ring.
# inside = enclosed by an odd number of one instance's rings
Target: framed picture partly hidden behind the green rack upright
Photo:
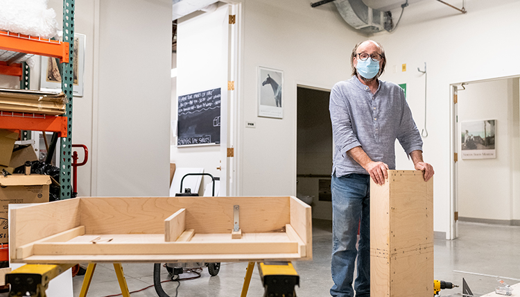
[[[73,95],[83,96],[83,71],[85,70],[85,39],[84,34],[74,34],[73,53]],[[60,92],[62,78],[55,58],[42,57],[42,76],[40,78],[40,90],[48,92]]]

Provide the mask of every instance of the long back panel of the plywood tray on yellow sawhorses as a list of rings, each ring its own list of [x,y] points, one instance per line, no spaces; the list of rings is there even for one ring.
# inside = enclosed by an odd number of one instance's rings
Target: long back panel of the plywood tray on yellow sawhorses
[[[186,208],[186,228],[231,233],[240,205],[242,232],[272,232],[290,222],[289,197],[89,197],[81,199],[87,234],[162,234],[164,220]],[[231,205],[231,206],[229,206]]]

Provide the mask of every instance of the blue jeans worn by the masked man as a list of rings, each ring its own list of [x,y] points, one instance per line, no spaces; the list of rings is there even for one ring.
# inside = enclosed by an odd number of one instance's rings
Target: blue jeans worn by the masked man
[[[332,192],[332,260],[334,285],[331,296],[370,297],[370,176],[347,174],[331,180]],[[358,226],[359,245],[356,250]],[[354,289],[354,262],[358,271]]]

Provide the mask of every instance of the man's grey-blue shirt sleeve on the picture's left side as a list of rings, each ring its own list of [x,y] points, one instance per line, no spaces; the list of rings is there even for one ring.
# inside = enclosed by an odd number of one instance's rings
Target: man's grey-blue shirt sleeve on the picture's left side
[[[347,151],[356,146],[361,146],[361,143],[358,137],[356,137],[352,127],[347,98],[341,93],[338,85],[335,85],[331,90],[329,112],[331,114],[334,144],[336,145],[336,149],[341,152],[343,158],[345,158]]]

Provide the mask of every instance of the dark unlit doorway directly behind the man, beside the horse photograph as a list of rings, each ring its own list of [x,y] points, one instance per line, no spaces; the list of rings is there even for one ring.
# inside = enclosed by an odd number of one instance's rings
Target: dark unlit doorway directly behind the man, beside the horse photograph
[[[332,219],[330,90],[297,86],[297,196],[315,219]]]

